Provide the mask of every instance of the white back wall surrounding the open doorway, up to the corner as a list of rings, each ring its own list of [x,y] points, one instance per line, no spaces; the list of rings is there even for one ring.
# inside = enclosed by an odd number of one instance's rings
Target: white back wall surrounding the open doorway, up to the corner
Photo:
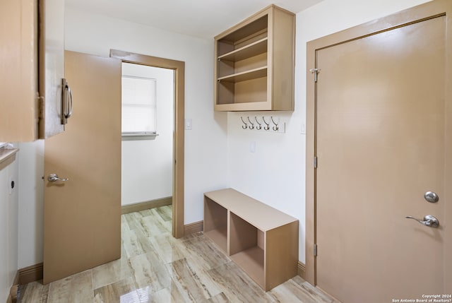
[[[213,42],[66,9],[66,49],[109,56],[110,49],[185,61],[185,224],[203,220],[203,192],[227,185],[226,114],[213,113]]]

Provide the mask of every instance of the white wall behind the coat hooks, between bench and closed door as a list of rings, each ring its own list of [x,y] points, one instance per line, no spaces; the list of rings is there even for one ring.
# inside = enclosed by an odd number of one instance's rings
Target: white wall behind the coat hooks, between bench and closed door
[[[325,0],[297,13],[295,112],[272,113],[287,119],[287,131],[242,131],[240,113],[228,115],[230,185],[299,219],[299,260],[305,262],[306,43],[427,0]],[[260,115],[247,113],[254,117]],[[256,142],[256,152],[249,144]]]

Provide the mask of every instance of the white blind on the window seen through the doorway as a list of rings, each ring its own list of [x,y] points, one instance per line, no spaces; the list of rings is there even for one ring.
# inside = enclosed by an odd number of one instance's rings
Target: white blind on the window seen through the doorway
[[[156,85],[153,78],[122,76],[122,133],[156,133]]]

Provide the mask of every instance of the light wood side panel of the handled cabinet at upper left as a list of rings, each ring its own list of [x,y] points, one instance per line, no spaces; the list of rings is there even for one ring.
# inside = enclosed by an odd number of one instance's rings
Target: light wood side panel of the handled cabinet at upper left
[[[0,2],[0,141],[37,138],[37,3]]]

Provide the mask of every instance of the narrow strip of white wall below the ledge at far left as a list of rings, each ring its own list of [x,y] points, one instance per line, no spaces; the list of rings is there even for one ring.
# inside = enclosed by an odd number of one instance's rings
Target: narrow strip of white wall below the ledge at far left
[[[0,302],[6,302],[18,269],[18,160],[0,170]],[[15,182],[9,194],[10,177]]]

